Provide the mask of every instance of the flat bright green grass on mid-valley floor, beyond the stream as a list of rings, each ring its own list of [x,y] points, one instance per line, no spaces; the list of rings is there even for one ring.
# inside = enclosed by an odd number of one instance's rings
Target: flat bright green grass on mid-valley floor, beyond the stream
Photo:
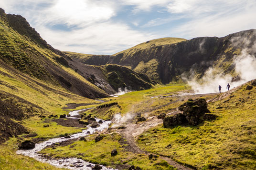
[[[151,98],[155,96],[162,96],[168,94],[174,94],[177,91],[181,90],[189,90],[189,87],[184,83],[172,83],[164,86],[159,86],[154,89],[149,90],[141,90],[141,91],[133,91],[126,93],[118,98],[108,98],[106,100],[110,100],[107,103],[117,102],[120,108],[117,106],[103,108],[103,109],[94,109],[85,111],[86,114],[92,114],[95,117],[100,119],[110,119],[116,113],[121,113],[122,115],[126,113],[137,113],[137,112],[145,112],[145,110],[154,110],[157,103],[161,101],[160,105],[165,105],[163,108],[159,108],[159,110],[169,110],[175,106],[171,106],[170,98]],[[159,105],[159,106],[160,106]],[[140,111],[141,110],[141,111]]]

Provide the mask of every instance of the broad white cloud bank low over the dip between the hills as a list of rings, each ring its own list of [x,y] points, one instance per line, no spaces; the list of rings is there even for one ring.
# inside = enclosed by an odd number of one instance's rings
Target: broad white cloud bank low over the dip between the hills
[[[101,22],[91,26],[72,30],[54,31],[39,28],[41,36],[54,48],[92,54],[114,54],[156,36],[131,30],[124,23]]]

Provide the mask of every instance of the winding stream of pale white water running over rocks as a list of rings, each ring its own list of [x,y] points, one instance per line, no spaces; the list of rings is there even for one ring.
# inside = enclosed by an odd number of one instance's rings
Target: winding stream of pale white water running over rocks
[[[92,108],[89,108],[89,109],[92,109]],[[79,118],[75,118],[74,117],[76,115],[79,115],[79,111],[82,111],[82,110],[75,110],[75,111],[69,112],[69,114],[71,116],[68,117],[68,118],[79,119]],[[99,120],[100,119],[96,119],[97,122]],[[54,159],[47,159],[47,158],[44,158],[43,156],[41,156],[41,154],[39,154],[37,152],[39,152],[40,150],[43,150],[43,148],[45,148],[46,146],[52,145],[53,143],[62,142],[62,141],[65,141],[65,140],[70,140],[70,139],[75,139],[75,138],[86,136],[86,135],[88,135],[86,133],[87,131],[90,131],[90,134],[92,134],[92,133],[94,133],[96,131],[102,131],[104,129],[107,129],[109,123],[111,123],[111,121],[104,121],[103,120],[103,123],[100,124],[99,127],[92,128],[92,127],[88,126],[88,129],[83,130],[81,133],[76,133],[76,134],[70,135],[71,138],[69,138],[69,139],[65,139],[64,137],[53,138],[53,139],[44,141],[42,143],[35,144],[35,148],[32,149],[32,150],[18,150],[16,153],[32,157],[35,160],[39,160],[41,162],[49,163],[49,164],[51,164],[53,166],[56,166],[58,168],[67,168],[67,169],[71,169],[71,170],[91,170],[92,167],[94,167],[95,164],[86,162],[86,161],[84,161],[82,159],[77,159],[77,158],[58,159],[58,160],[57,159],[56,160],[54,160]],[[89,165],[91,165],[91,166],[90,167],[86,167],[86,166],[89,166]],[[114,169],[111,169],[111,168],[104,167],[102,165],[101,165],[101,167],[102,167],[102,170],[114,170]]]

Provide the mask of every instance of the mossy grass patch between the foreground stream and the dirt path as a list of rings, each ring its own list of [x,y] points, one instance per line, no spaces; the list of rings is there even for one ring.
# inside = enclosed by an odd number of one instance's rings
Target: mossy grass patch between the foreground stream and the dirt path
[[[87,141],[76,141],[71,145],[64,147],[56,147],[56,149],[45,149],[40,153],[48,154],[53,157],[77,157],[92,163],[98,163],[105,166],[116,167],[117,164],[124,165],[128,169],[129,166],[139,166],[143,170],[174,170],[164,160],[149,160],[145,154],[135,154],[126,151],[121,144],[121,136],[117,133],[105,135],[103,140],[95,142],[96,135],[86,137]],[[117,149],[117,155],[111,156],[111,151]]]

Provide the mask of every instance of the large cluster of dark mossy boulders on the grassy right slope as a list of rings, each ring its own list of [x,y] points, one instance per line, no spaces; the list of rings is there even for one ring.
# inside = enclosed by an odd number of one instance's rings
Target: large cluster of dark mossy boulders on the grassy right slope
[[[203,119],[213,120],[217,117],[213,114],[203,116],[205,113],[210,113],[210,110],[207,108],[206,100],[202,98],[196,100],[189,99],[179,106],[179,110],[183,111],[183,113],[167,116],[163,119],[163,126],[165,128],[185,123],[196,126],[201,123]]]

